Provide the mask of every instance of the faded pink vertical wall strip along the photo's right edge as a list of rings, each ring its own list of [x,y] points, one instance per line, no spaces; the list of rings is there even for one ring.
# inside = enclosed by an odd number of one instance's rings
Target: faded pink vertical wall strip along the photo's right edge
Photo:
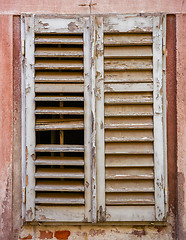
[[[177,22],[177,168],[179,239],[186,239],[186,15]]]

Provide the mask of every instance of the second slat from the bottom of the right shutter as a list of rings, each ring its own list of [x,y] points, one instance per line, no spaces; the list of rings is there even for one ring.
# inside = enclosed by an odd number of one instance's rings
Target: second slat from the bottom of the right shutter
[[[106,192],[154,192],[153,180],[107,180]]]

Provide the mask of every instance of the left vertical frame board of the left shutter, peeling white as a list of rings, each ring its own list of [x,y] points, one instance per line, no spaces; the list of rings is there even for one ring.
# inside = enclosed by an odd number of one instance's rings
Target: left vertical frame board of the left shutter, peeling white
[[[25,17],[26,220],[35,218],[34,15]]]

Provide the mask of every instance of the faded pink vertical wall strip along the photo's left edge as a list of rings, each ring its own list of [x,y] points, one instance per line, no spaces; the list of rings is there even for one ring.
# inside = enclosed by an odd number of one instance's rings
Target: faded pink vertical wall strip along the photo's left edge
[[[0,239],[12,227],[12,16],[0,16]]]

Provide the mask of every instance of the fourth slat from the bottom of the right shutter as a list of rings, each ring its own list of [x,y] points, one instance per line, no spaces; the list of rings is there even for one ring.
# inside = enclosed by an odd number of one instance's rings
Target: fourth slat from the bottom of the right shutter
[[[147,155],[106,155],[106,167],[153,167],[153,154]]]

